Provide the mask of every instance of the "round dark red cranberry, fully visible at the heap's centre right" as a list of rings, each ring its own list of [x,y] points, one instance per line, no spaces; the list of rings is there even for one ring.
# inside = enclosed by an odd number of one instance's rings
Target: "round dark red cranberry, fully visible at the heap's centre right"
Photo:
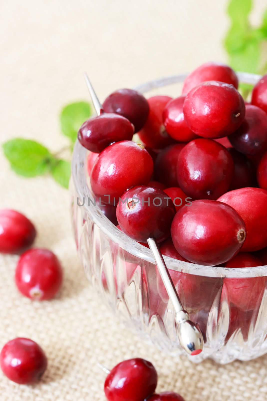
[[[233,159],[223,145],[195,139],[179,154],[178,184],[192,198],[217,199],[229,189],[233,168]]]

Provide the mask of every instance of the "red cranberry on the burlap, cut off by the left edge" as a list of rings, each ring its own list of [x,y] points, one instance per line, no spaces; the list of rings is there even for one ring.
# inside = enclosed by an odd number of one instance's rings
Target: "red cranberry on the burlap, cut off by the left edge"
[[[27,217],[16,210],[0,210],[0,252],[20,253],[35,237],[36,230]]]

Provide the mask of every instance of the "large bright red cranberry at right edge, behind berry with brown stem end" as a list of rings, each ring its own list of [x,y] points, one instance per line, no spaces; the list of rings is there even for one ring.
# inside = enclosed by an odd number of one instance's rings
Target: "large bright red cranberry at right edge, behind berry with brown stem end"
[[[247,236],[244,251],[258,251],[267,246],[267,190],[240,188],[227,192],[218,201],[233,207],[245,221]]]

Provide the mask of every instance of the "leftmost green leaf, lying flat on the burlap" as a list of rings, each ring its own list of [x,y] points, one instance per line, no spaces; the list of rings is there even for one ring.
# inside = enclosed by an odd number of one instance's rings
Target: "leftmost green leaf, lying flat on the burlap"
[[[17,174],[35,177],[48,171],[52,156],[49,150],[38,142],[15,138],[2,146],[12,170]]]

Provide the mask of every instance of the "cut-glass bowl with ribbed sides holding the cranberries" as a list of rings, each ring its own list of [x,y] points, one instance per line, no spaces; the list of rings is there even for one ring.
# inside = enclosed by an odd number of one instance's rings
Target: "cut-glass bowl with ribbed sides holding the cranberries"
[[[255,84],[257,75],[239,73],[239,80]],[[136,89],[149,96],[181,93],[186,75],[151,81]],[[162,89],[164,88],[164,89]],[[150,249],[118,230],[94,205],[89,188],[86,160],[88,152],[76,142],[72,160],[71,213],[78,255],[88,280],[103,302],[127,327],[171,354],[185,353],[177,338],[174,310],[157,272]],[[217,363],[250,360],[267,352],[267,290],[257,287],[255,277],[265,283],[267,266],[224,268],[195,265],[164,257],[191,320],[203,332],[205,347],[197,356],[201,362]],[[244,280],[251,296],[242,307],[229,302],[224,281]],[[262,281],[261,281],[262,282]]]

